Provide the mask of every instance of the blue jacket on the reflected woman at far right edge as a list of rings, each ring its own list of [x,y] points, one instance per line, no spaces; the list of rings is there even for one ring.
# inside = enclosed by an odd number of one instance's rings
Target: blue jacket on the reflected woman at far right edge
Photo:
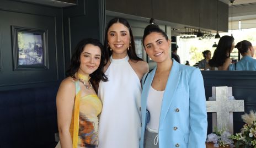
[[[250,56],[244,56],[236,64],[233,63],[228,68],[229,70],[256,70],[256,59]]]

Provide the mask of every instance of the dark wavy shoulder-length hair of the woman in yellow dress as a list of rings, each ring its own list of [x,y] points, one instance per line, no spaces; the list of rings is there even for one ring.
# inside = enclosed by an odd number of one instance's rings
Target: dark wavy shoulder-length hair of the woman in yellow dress
[[[80,61],[81,53],[83,52],[84,47],[86,47],[86,45],[88,44],[98,46],[100,48],[100,51],[102,52],[102,56],[100,56],[99,68],[95,70],[92,74],[90,74],[90,81],[96,84],[99,83],[100,80],[108,81],[108,78],[103,72],[104,57],[105,57],[104,48],[102,43],[100,43],[100,41],[97,39],[83,39],[77,44],[75,48],[75,52],[72,54],[71,64],[66,72],[66,75],[71,76],[72,78],[75,78],[74,74],[78,71],[81,63]]]

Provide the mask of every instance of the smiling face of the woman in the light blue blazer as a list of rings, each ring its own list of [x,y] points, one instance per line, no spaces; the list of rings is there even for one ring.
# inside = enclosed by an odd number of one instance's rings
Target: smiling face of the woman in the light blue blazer
[[[166,59],[170,59],[170,40],[166,40],[161,33],[152,32],[147,35],[143,44],[148,56],[150,56],[154,62],[162,63],[166,61]]]

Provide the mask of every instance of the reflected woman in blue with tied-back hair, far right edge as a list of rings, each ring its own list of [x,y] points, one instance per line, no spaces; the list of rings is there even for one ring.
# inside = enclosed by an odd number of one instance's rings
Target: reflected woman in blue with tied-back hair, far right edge
[[[231,64],[229,70],[256,70],[256,59],[252,58],[254,56],[252,43],[243,40],[238,42],[236,47],[243,58],[241,58],[240,61]]]

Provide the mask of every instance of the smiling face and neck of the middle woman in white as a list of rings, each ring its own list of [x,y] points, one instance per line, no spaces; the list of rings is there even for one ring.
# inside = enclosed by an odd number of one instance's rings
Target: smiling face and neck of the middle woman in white
[[[130,45],[129,29],[121,23],[114,23],[108,30],[108,44],[114,59],[125,58]]]

